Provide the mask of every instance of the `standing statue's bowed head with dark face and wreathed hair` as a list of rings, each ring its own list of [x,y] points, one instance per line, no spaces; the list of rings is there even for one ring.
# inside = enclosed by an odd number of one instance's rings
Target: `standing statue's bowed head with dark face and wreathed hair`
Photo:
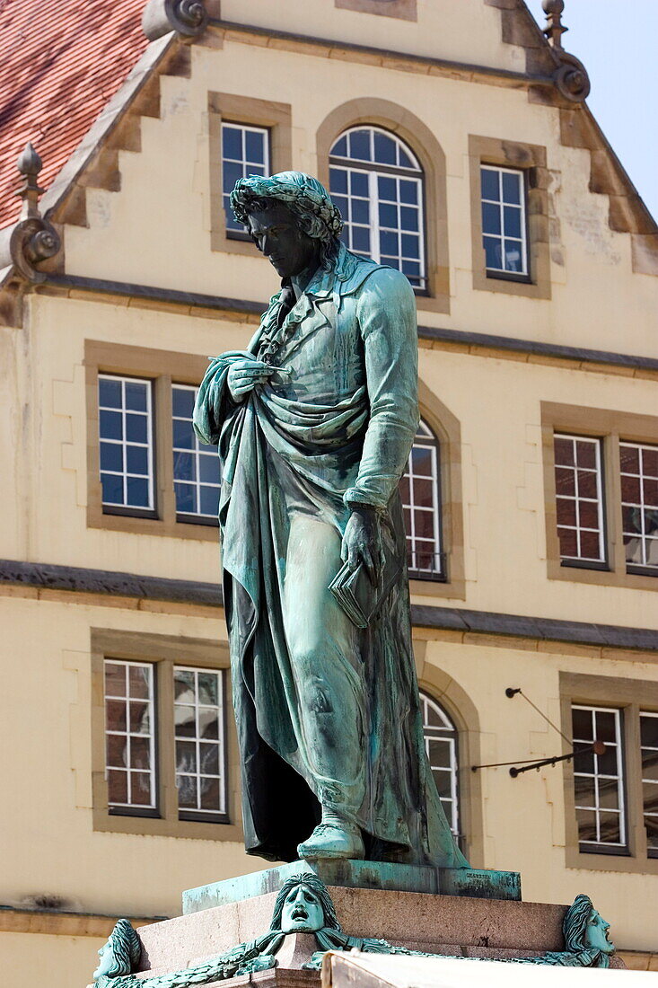
[[[328,268],[338,253],[341,214],[322,183],[303,172],[239,179],[231,208],[281,278]]]

